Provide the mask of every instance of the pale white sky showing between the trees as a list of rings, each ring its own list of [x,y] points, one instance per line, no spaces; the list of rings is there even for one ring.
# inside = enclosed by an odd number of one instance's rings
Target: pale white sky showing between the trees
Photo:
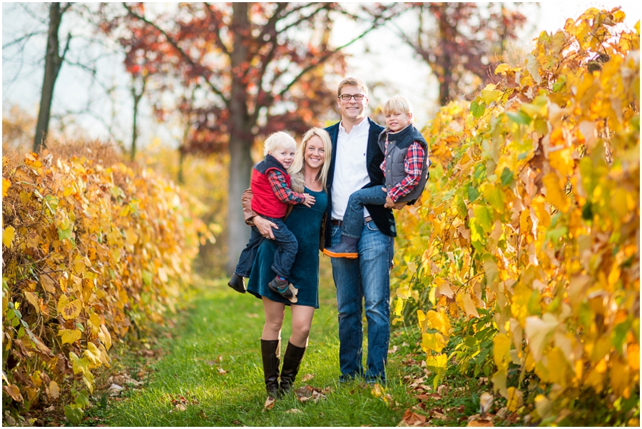
[[[626,24],[633,28],[635,22],[640,19],[641,6],[632,1],[546,1],[540,2],[539,7],[526,4],[524,8],[527,11],[529,23],[526,24],[524,36],[518,44],[526,51],[530,51],[534,46],[532,39],[540,31],[557,31],[564,26],[567,18],[576,18],[589,7],[612,9],[616,6],[622,6],[627,14]],[[36,6],[36,10],[38,7]],[[40,7],[46,16],[46,9],[44,9],[46,6]],[[16,34],[24,34],[26,29],[27,31],[46,29],[46,24],[39,24],[35,17],[26,14],[24,9],[16,4],[3,3],[1,14],[3,45],[15,39]],[[400,25],[403,26],[404,22]],[[409,21],[408,25],[410,25]],[[61,39],[72,29],[78,31],[78,23],[63,19]],[[357,31],[355,26],[348,26],[340,21],[335,23],[335,29],[342,29],[342,31],[335,31],[337,44],[341,40],[347,40]],[[3,49],[1,92],[3,115],[6,115],[10,106],[18,105],[36,116],[44,69],[44,61],[41,58],[45,43],[44,36],[34,38],[26,45],[24,57],[16,55],[11,49]],[[98,49],[82,47],[78,49],[78,46],[83,46],[82,44],[82,40],[72,39],[72,48],[76,47],[76,49],[70,49],[70,53],[75,52],[76,55],[82,56],[101,55]],[[398,41],[397,36],[394,35],[394,27],[387,25],[373,31],[364,39],[349,46],[346,52],[349,54],[348,76],[357,76],[367,82],[385,83],[372,91],[370,108],[383,104],[391,96],[403,95],[412,102],[415,121],[419,126],[429,121],[434,115],[438,108],[435,104],[437,86],[434,77],[430,74],[429,66],[420,61],[412,61],[412,51]],[[408,61],[390,61],[390,59],[408,59]],[[76,61],[80,58],[72,57],[71,60]],[[117,103],[110,101],[104,88],[96,84],[91,86],[87,71],[64,65],[56,81],[52,110],[54,113],[90,111],[91,114],[78,113],[65,116],[61,123],[68,130],[77,131],[77,128],[81,128],[86,137],[101,139],[108,137],[107,128],[112,126],[113,134],[128,146],[131,141],[132,101],[131,95],[123,87],[128,78],[123,69],[122,60],[117,56],[105,56],[99,60],[98,64],[98,76],[101,78],[99,80],[108,87],[114,86],[113,94]],[[338,84],[342,77],[335,76],[336,82],[331,84]],[[140,115],[139,145],[146,146],[155,138],[160,138],[169,146],[178,144],[180,132],[172,124],[159,124],[153,121],[151,108],[144,99],[141,102]]]

